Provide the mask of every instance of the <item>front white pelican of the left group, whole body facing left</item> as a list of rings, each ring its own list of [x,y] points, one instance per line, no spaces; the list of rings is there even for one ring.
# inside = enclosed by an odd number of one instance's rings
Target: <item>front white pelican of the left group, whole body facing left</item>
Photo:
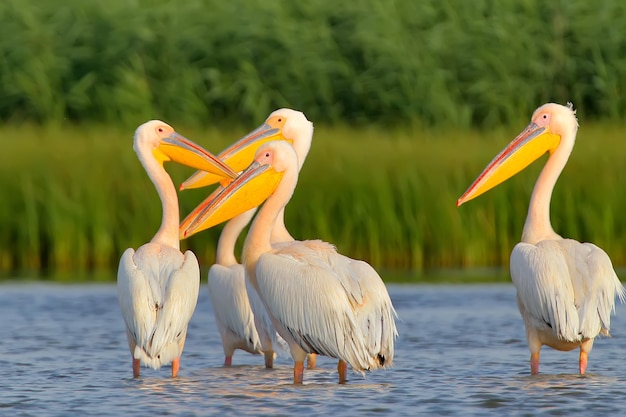
[[[267,198],[244,243],[246,279],[289,345],[294,383],[302,383],[310,353],[339,359],[339,382],[345,383],[348,364],[359,372],[392,365],[395,310],[380,276],[365,262],[342,256],[320,240],[272,244],[272,229],[294,192],[298,170],[290,144],[266,143],[250,167],[198,216],[207,222],[213,216],[228,218],[224,212],[232,217],[260,204],[252,194]],[[374,291],[368,287],[372,280]]]

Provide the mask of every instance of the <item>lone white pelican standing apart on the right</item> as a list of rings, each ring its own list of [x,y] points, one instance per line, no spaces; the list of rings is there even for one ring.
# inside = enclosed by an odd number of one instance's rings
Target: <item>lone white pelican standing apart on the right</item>
[[[580,348],[579,371],[584,374],[595,337],[609,335],[615,296],[624,300],[624,287],[608,255],[592,243],[562,238],[550,224],[552,190],[577,131],[571,103],[544,104],[457,201],[460,206],[549,153],[532,192],[522,241],[513,248],[510,261],[533,375],[539,372],[543,345],[561,351]]]

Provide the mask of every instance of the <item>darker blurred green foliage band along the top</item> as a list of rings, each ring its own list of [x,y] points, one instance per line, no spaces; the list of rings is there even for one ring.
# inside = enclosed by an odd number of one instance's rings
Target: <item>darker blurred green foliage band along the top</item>
[[[626,114],[626,3],[3,0],[0,120],[496,126]]]

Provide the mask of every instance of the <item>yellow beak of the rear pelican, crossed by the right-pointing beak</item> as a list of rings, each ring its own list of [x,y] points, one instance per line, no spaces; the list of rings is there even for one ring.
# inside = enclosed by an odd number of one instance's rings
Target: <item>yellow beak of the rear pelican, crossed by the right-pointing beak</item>
[[[276,120],[275,120],[276,119]],[[252,160],[256,150],[262,144],[272,140],[286,140],[292,143],[293,140],[286,139],[283,136],[283,126],[285,118],[278,116],[270,117],[261,126],[248,133],[228,148],[224,149],[218,157],[232,167],[235,171],[244,170]],[[181,190],[190,188],[206,187],[219,182],[221,178],[214,173],[206,171],[197,171],[187,178],[181,185]]]

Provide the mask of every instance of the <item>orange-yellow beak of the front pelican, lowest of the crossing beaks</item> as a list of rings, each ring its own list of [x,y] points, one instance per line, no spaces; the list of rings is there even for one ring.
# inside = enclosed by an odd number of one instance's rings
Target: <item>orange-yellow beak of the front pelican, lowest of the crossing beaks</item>
[[[254,161],[228,185],[218,187],[182,221],[180,239],[258,207],[276,190],[283,174]]]

